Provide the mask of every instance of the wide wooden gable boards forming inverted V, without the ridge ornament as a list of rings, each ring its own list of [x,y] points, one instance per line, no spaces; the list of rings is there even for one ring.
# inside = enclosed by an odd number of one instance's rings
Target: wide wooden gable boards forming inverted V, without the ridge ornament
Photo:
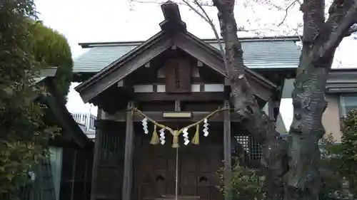
[[[213,47],[209,47],[208,44],[202,46],[203,41],[193,38],[189,33],[179,33],[176,36],[169,38],[169,36],[161,36],[151,40],[150,43],[142,48],[136,48],[133,51],[129,52],[125,58],[119,58],[114,63],[108,67],[101,70],[93,78],[87,80],[81,85],[77,86],[75,89],[80,93],[81,98],[84,102],[88,102],[99,93],[103,92],[111,85],[114,85],[119,80],[122,80],[127,75],[134,72],[145,63],[149,62],[151,59],[159,56],[160,53],[166,51],[173,45],[178,46],[186,53],[191,56],[201,60],[203,63],[209,67],[216,70],[223,76],[226,76],[224,63],[222,58],[217,55],[217,50],[213,50]],[[134,55],[133,55],[134,54]],[[257,76],[256,73],[251,72],[247,69],[247,79],[250,80],[253,87],[254,93],[263,100],[268,100],[268,98],[273,93],[273,88],[275,85],[270,81]],[[258,80],[258,84],[254,83]]]

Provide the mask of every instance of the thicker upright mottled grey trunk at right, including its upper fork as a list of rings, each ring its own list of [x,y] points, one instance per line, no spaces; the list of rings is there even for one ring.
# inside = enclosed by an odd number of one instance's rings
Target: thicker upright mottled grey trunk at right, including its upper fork
[[[286,199],[318,200],[321,190],[318,140],[325,130],[321,123],[326,109],[326,80],[333,56],[355,16],[356,3],[334,1],[329,18],[324,19],[324,1],[305,0],[303,11],[303,48],[293,90],[293,122],[290,128],[289,171],[286,174]],[[346,21],[347,20],[347,21]],[[345,25],[343,25],[345,23]]]

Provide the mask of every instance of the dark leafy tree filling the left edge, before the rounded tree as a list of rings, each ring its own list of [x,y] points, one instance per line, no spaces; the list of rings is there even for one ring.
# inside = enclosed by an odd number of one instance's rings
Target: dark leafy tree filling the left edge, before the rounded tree
[[[42,122],[44,105],[34,75],[41,65],[31,55],[28,18],[34,1],[0,1],[0,199],[16,199],[27,172],[46,152],[53,129]],[[45,154],[46,155],[46,154]]]

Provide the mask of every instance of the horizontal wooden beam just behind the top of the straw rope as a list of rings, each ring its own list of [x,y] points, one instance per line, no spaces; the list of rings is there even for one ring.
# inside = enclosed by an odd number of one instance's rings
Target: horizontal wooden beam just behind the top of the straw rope
[[[204,117],[209,115],[211,112],[192,112],[191,118],[164,118],[164,112],[153,111],[153,112],[144,112],[147,117],[150,117],[156,122],[197,122],[202,120]],[[208,119],[210,122],[223,122],[224,113],[218,112]],[[238,115],[235,112],[231,111],[231,122],[240,122]],[[133,122],[141,122],[144,117],[142,117],[138,112],[134,112]],[[106,115],[102,120],[108,120],[113,122],[125,122],[126,121],[126,112],[116,112],[114,115]]]

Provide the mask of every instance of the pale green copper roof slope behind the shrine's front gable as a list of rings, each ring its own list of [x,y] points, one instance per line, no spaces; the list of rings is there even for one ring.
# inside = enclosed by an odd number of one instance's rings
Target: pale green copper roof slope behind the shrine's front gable
[[[203,40],[215,48],[215,40]],[[248,68],[297,68],[301,50],[292,38],[242,39],[243,59]],[[89,51],[74,60],[74,73],[96,73],[142,42],[86,43]]]

